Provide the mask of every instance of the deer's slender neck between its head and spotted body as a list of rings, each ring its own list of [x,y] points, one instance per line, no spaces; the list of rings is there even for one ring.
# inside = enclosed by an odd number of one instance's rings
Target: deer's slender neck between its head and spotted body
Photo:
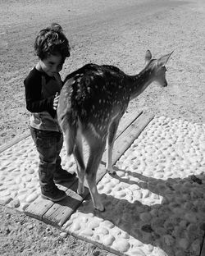
[[[144,89],[153,82],[151,69],[144,69],[138,75],[129,76],[130,100],[142,94]]]

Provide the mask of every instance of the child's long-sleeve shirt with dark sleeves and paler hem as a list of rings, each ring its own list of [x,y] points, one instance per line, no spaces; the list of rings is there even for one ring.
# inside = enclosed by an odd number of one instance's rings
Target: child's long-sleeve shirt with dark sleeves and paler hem
[[[60,75],[50,77],[34,67],[24,84],[26,108],[32,113],[30,126],[39,130],[59,131],[53,100],[62,89]]]

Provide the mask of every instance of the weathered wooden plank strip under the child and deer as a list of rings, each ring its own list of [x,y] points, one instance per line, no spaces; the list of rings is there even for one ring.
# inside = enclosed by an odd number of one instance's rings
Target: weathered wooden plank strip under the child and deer
[[[121,119],[120,126],[117,130],[116,141],[113,150],[112,164],[121,158],[126,149],[130,147],[139,134],[144,130],[148,123],[153,119],[153,115],[144,114],[143,112],[129,112]],[[84,155],[88,156],[88,150],[84,150]],[[106,151],[103,153],[103,158],[98,167],[97,183],[106,173]],[[75,170],[75,165],[71,167],[71,171]],[[28,208],[25,209],[25,214],[30,217],[37,218],[52,226],[61,226],[71,217],[71,214],[80,206],[82,201],[89,196],[89,189],[85,184],[83,195],[77,194],[78,180],[71,183],[66,183],[61,189],[66,191],[68,195],[61,202],[53,203],[52,201],[42,199],[40,196]]]

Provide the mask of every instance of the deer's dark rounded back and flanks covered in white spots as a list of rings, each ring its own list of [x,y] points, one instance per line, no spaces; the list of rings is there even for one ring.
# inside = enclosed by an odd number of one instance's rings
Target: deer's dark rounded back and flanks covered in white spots
[[[129,103],[125,83],[126,75],[117,67],[88,64],[66,76],[59,102],[83,123],[107,123]]]

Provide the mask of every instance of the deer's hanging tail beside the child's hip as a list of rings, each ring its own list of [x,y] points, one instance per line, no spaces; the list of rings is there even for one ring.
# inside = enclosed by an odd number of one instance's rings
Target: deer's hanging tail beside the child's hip
[[[65,135],[65,143],[67,154],[71,155],[75,149],[75,141],[78,130],[78,117],[75,112],[66,112],[62,117],[58,118],[59,125]]]

